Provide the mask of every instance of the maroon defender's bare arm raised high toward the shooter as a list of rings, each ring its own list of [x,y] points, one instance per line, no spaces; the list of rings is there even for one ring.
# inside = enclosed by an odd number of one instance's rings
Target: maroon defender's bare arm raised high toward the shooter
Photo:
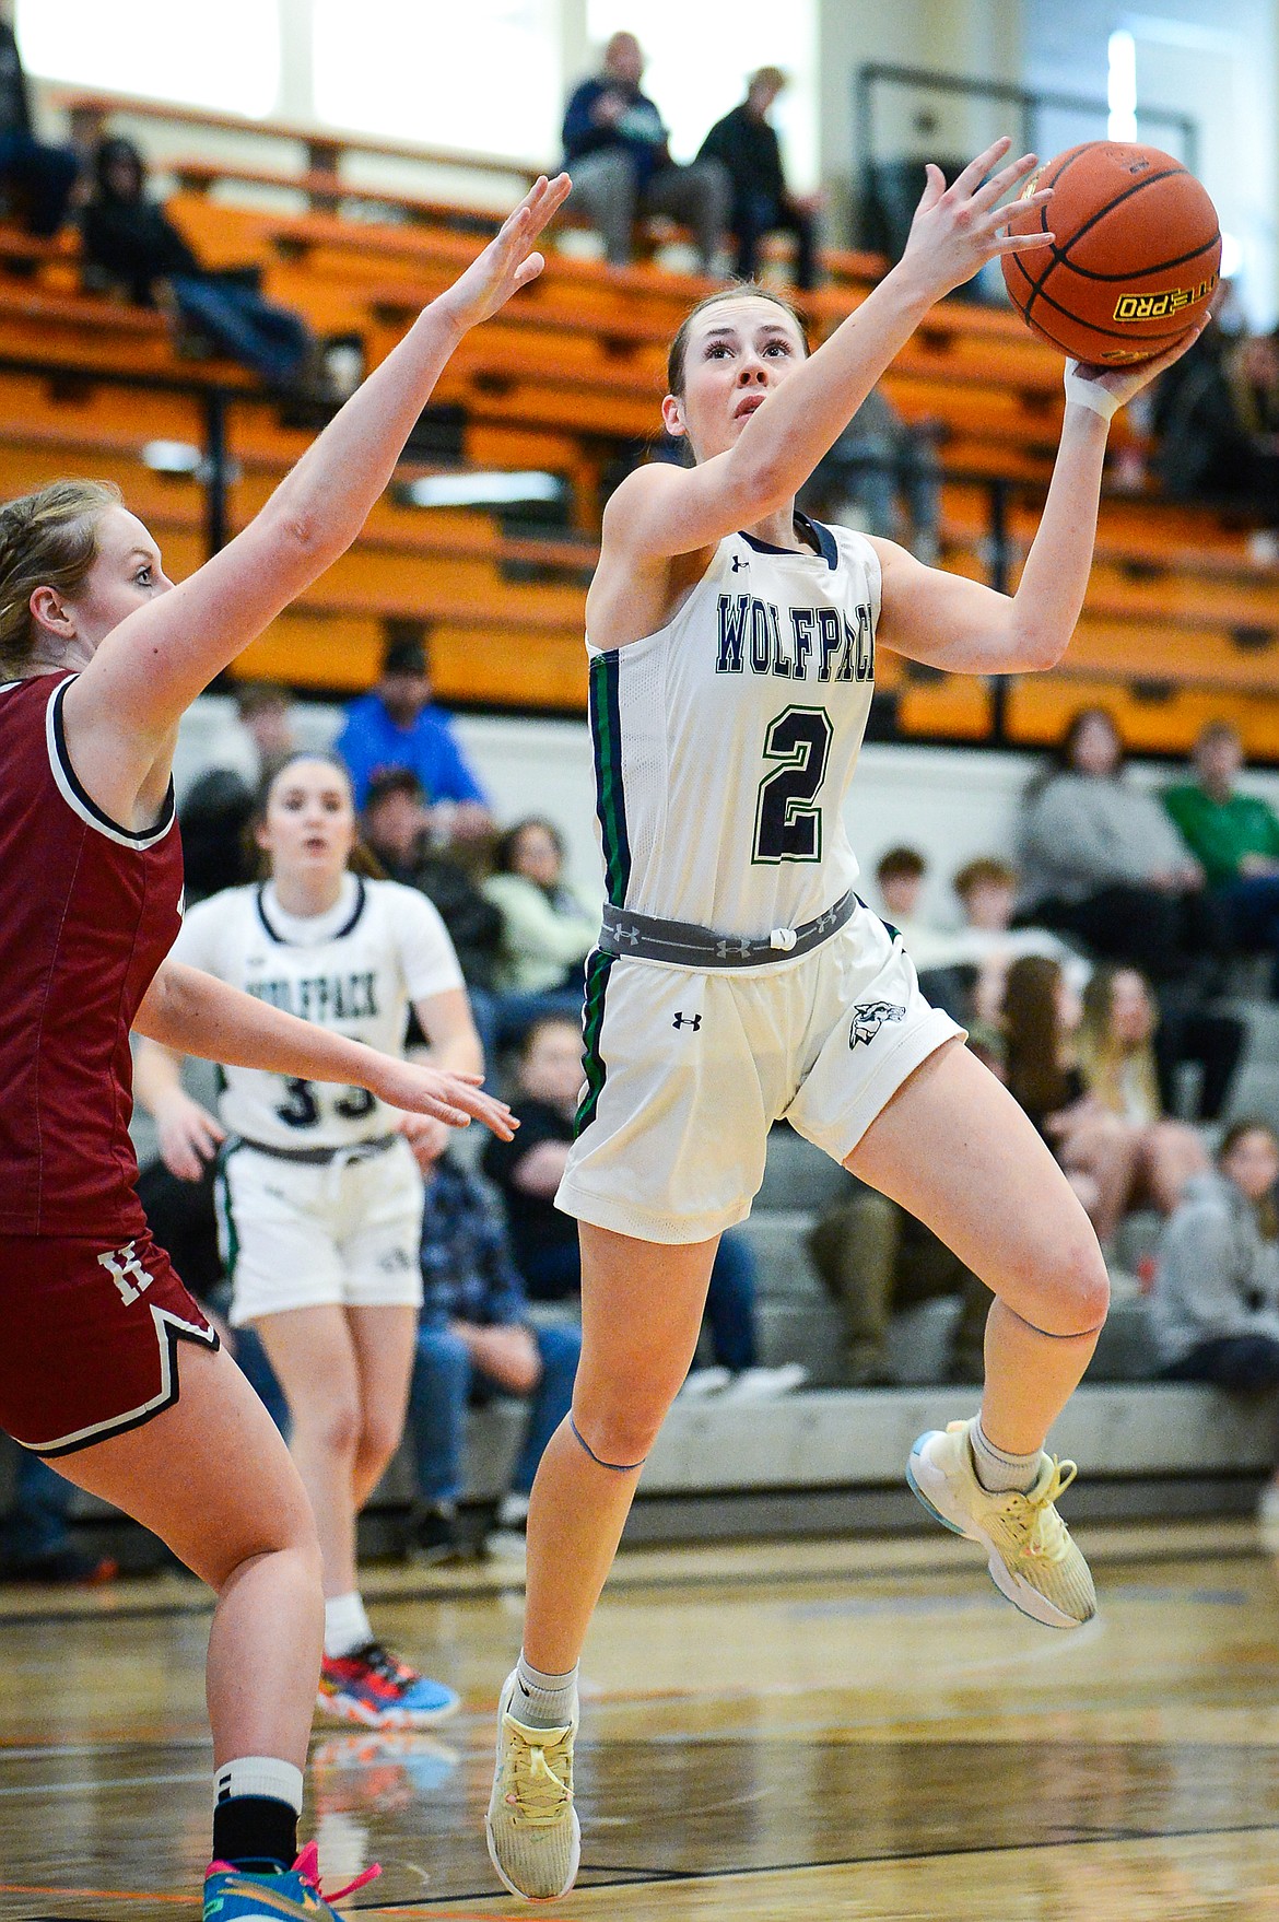
[[[540,179],[478,259],[430,302],[346,402],[244,532],[102,640],[65,700],[67,746],[81,778],[88,780],[77,759],[81,744],[102,730],[115,738],[140,782],[213,675],[355,540],[457,342],[542,271],[534,244],[567,194],[567,175]],[[159,577],[154,559],[152,584]],[[75,632],[65,630],[67,609],[58,607],[58,596],[33,605],[33,613],[52,638]],[[121,782],[115,786],[119,792]]]

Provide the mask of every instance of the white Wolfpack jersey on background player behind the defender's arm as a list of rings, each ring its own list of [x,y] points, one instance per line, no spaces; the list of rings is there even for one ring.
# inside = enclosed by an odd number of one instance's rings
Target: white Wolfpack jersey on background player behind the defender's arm
[[[284,913],[271,884],[227,888],[186,911],[173,959],[388,1055],[403,1051],[409,1001],[463,984],[426,896],[355,875],[336,907],[311,917]],[[269,1147],[350,1147],[396,1122],[365,1088],[236,1067],[223,1069],[219,1113]]]

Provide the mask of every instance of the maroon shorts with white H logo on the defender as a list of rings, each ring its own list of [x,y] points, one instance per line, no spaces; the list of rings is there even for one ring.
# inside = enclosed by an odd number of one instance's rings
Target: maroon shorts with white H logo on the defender
[[[217,1334],[150,1234],[0,1236],[0,1428],[71,1455],[179,1397],[179,1342]]]

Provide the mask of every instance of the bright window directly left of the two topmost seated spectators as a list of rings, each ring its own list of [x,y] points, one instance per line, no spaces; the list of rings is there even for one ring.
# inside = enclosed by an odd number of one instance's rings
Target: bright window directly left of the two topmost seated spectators
[[[315,111],[471,154],[559,152],[559,0],[315,0]]]

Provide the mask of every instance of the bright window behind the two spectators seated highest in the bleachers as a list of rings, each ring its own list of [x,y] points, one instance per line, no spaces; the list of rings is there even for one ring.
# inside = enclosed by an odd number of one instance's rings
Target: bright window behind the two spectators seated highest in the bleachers
[[[591,42],[636,33],[647,56],[643,90],[670,127],[670,152],[693,160],[716,119],[745,96],[757,67],[782,67],[789,86],[772,110],[787,181],[818,185],[816,0],[734,0],[732,8],[688,0],[588,0]]]

